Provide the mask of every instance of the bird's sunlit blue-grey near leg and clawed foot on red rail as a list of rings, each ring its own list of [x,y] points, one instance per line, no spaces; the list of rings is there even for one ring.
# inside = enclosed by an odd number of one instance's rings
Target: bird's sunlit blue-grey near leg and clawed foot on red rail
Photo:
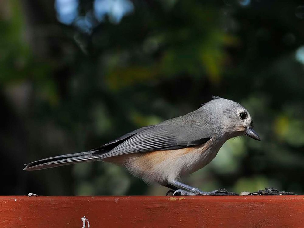
[[[194,188],[192,186],[183,184],[178,181],[173,181],[172,183],[169,183],[169,185],[175,186],[178,188],[182,188],[182,189],[175,190],[173,195],[238,195],[237,193],[234,193],[234,192],[228,192],[227,189],[225,189],[225,188],[219,189],[219,190],[214,190],[211,192],[204,192],[199,188]]]

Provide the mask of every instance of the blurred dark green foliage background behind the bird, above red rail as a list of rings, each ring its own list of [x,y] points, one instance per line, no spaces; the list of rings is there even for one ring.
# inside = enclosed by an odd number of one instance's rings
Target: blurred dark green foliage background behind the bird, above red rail
[[[0,1],[0,195],[164,195],[103,162],[23,171],[199,108],[254,117],[186,183],[304,193],[304,2]]]

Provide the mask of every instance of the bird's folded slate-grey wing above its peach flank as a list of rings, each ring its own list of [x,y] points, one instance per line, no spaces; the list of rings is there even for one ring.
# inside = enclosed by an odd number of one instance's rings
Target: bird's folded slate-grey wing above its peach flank
[[[103,149],[109,147],[109,145],[115,145],[111,150],[103,153],[100,158],[155,150],[181,149],[202,145],[211,138],[209,132],[204,133],[193,123],[180,125],[174,124],[175,122],[180,123],[180,119],[172,119],[171,122],[140,128],[113,140],[99,147]]]

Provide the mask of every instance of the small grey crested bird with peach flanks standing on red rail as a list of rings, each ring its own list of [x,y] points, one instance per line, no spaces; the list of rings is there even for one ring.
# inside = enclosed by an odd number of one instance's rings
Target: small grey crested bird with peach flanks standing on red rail
[[[104,161],[123,166],[148,184],[166,186],[173,195],[235,195],[226,189],[205,192],[180,182],[180,178],[205,167],[227,140],[243,135],[260,141],[247,109],[230,99],[213,96],[183,116],[141,127],[87,152],[25,164],[24,170]]]

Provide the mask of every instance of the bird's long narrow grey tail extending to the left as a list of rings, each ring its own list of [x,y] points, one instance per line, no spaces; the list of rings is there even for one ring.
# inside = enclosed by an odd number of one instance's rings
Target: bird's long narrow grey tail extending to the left
[[[23,170],[39,170],[39,169],[47,169],[47,168],[52,168],[62,165],[75,164],[79,162],[96,161],[101,157],[100,152],[96,153],[98,151],[101,150],[93,150],[93,151],[81,152],[75,154],[66,154],[66,155],[41,159],[39,161],[34,161],[29,164],[25,164],[26,167]]]

